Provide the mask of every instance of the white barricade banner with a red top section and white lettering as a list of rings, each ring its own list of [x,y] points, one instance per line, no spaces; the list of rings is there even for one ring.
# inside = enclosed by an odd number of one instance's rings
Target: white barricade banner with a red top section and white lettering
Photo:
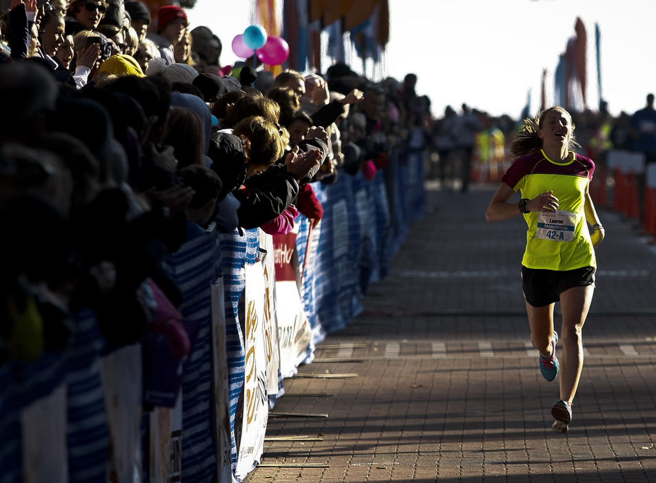
[[[306,357],[312,330],[299,292],[298,224],[287,235],[273,235],[278,343],[282,377],[292,377]]]

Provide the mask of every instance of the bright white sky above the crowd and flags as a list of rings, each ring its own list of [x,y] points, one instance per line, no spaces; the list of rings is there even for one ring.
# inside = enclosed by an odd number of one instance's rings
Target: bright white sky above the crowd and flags
[[[539,108],[542,70],[547,104],[553,72],[580,17],[588,32],[588,107],[597,109],[595,23],[602,33],[602,95],[613,115],[644,107],[656,92],[655,0],[389,0],[386,75],[418,77],[417,92],[440,116],[461,103],[491,115],[519,117],[530,91]],[[281,0],[280,0],[281,2]],[[281,2],[282,3],[282,2]],[[253,19],[250,0],[198,0],[191,28],[205,25],[223,43],[221,63],[237,60],[230,42]],[[361,70],[355,63],[354,70]]]

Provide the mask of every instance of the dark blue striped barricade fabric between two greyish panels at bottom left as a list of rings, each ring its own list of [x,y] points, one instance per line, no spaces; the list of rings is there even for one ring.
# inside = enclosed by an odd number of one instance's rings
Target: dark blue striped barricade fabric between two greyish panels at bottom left
[[[99,357],[106,342],[92,311],[82,310],[72,320],[74,331],[66,354],[68,480],[103,481],[110,437]]]

